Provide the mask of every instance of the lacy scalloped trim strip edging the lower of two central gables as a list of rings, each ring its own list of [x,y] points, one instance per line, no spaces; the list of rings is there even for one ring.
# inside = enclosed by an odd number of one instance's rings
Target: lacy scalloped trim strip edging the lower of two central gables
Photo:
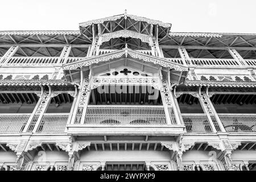
[[[146,62],[150,62],[150,63],[154,63],[154,64],[159,64],[162,67],[170,67],[175,69],[176,71],[188,71],[188,68],[184,65],[179,65],[177,63],[172,63],[166,59],[162,59],[159,57],[154,57],[154,56],[149,56],[146,55],[144,53],[141,52],[137,52],[137,51],[133,51],[131,49],[128,48],[124,48],[122,50],[119,51],[114,51],[111,53],[107,53],[105,55],[100,55],[100,56],[95,56],[95,57],[88,57],[79,61],[76,61],[74,63],[69,63],[69,64],[65,64],[63,65],[63,69],[77,69],[77,68],[81,68],[81,67],[87,67],[91,64],[97,64],[100,62],[104,62],[104,61],[109,61],[110,59],[115,59],[115,58],[119,58],[122,57],[123,55],[125,55],[127,57],[127,55],[130,55],[131,57],[135,58],[135,59],[140,59]]]

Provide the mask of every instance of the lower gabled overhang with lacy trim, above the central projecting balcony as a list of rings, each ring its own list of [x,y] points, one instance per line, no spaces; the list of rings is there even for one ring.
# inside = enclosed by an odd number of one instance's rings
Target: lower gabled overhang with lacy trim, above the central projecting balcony
[[[184,83],[185,77],[188,73],[188,67],[182,64],[173,63],[170,60],[146,55],[144,53],[134,51],[129,48],[124,48],[118,51],[106,53],[100,56],[88,57],[81,59],[79,61],[68,63],[63,65],[64,75],[67,82],[77,82],[80,81],[81,75],[80,71],[88,71],[89,66],[93,64],[100,64],[104,62],[117,61],[121,59],[136,60],[138,63],[147,63],[152,65],[158,65],[162,70],[168,72],[170,71],[172,82],[177,84]],[[173,74],[173,75],[172,75]]]

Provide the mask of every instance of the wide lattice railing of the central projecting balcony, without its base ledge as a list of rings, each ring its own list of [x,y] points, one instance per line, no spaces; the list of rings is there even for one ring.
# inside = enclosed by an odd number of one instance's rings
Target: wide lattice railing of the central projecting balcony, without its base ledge
[[[167,122],[163,106],[88,105],[84,124],[166,125]]]

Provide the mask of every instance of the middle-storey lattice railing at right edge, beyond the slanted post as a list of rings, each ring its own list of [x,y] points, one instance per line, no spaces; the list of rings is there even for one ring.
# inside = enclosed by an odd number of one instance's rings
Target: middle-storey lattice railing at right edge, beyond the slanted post
[[[256,132],[256,114],[218,114],[227,132]]]

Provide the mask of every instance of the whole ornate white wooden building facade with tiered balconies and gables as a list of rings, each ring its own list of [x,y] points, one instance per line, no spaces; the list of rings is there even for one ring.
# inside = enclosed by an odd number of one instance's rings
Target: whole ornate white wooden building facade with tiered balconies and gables
[[[255,170],[256,34],[127,14],[0,31],[0,169]]]

